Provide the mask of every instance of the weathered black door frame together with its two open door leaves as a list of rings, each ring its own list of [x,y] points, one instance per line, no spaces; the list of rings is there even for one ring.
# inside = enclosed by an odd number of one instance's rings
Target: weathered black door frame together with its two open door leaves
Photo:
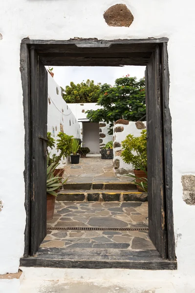
[[[46,84],[44,65],[120,66],[146,65],[149,184],[149,235],[164,262],[162,267],[176,268],[172,207],[172,135],[169,111],[169,71],[167,42],[147,40],[22,40],[21,74],[25,122],[25,251],[24,258],[36,253],[45,236],[45,171],[37,158],[45,149],[45,129],[40,125],[41,92]],[[43,98],[44,97],[44,98]],[[46,102],[45,102],[46,103]],[[43,117],[43,116],[42,116]],[[155,151],[154,151],[155,150]],[[45,159],[44,159],[45,160]],[[43,163],[44,165],[44,163]],[[46,165],[45,165],[46,166]],[[37,176],[43,174],[42,181]],[[42,190],[42,191],[40,191]],[[40,210],[42,209],[41,213]],[[36,219],[36,221],[35,221]],[[149,257],[150,258],[150,257]],[[166,264],[166,265],[165,265]],[[113,264],[112,264],[113,267]],[[137,267],[138,268],[138,267]],[[143,264],[140,268],[143,268]],[[149,268],[149,267],[145,267]]]

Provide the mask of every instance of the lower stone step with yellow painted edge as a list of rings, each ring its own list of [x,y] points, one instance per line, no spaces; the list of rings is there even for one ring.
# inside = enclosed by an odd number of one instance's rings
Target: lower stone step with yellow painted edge
[[[135,190],[61,190],[58,193],[58,201],[137,201],[145,202],[148,195],[145,192]]]

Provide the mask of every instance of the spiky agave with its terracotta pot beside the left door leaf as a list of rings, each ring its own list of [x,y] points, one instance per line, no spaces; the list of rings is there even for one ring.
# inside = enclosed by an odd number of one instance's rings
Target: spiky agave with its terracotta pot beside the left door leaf
[[[47,159],[48,163],[48,159]],[[47,221],[53,218],[55,201],[58,196],[58,191],[62,188],[63,184],[65,184],[66,180],[62,182],[62,177],[55,176],[54,170],[56,168],[56,164],[53,163],[47,167]]]

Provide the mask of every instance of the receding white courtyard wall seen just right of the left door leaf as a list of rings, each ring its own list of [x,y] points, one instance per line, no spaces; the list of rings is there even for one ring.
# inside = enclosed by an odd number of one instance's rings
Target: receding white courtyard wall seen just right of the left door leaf
[[[80,138],[79,123],[62,98],[62,90],[55,82],[55,76],[52,78],[48,73],[47,131],[51,132],[52,137],[57,140],[57,135],[61,130],[75,138]],[[49,152],[50,156],[54,153],[59,154],[55,147],[52,150],[49,149]],[[58,167],[63,167],[65,163],[67,164],[67,158],[62,159]]]

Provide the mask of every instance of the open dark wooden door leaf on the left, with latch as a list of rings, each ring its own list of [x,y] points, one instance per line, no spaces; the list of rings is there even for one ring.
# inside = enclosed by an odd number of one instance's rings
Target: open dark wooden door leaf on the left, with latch
[[[47,71],[34,48],[30,49],[30,254],[38,250],[46,236],[46,137]]]

